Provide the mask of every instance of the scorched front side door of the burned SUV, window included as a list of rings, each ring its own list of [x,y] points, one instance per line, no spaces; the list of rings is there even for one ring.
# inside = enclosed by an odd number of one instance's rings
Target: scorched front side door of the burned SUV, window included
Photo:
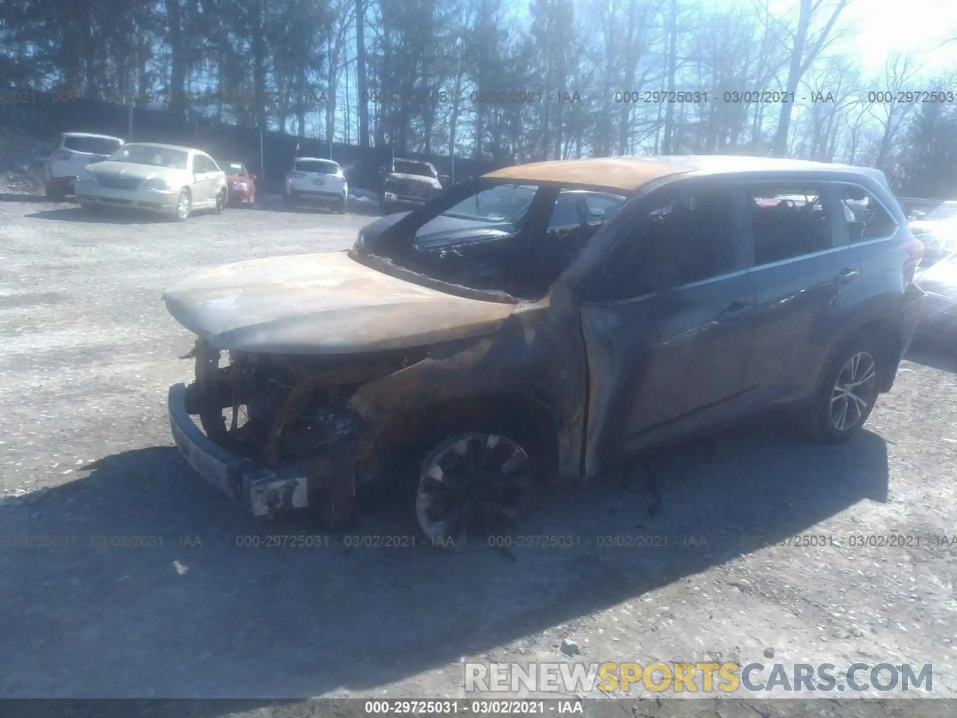
[[[735,201],[685,182],[618,216],[625,234],[580,294],[587,476],[706,424],[742,392],[755,293]]]

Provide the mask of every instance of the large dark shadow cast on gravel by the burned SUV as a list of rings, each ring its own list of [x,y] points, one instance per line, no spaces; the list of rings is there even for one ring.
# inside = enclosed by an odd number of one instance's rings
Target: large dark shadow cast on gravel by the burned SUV
[[[596,482],[550,498],[521,527],[565,537],[564,548],[511,555],[425,546],[404,503],[347,535],[304,519],[263,524],[172,446],[98,460],[83,467],[85,478],[0,505],[9,535],[47,537],[0,550],[7,615],[17,617],[2,640],[0,694],[267,705],[367,696],[436,668],[457,677],[460,657],[492,660],[503,643],[776,543],[862,500],[887,500],[887,451],[875,434],[818,447],[768,425],[727,430],[716,446],[711,460],[688,450],[654,460],[654,517],[640,475]],[[667,545],[599,538],[634,535]],[[408,538],[385,548],[388,536]]]

